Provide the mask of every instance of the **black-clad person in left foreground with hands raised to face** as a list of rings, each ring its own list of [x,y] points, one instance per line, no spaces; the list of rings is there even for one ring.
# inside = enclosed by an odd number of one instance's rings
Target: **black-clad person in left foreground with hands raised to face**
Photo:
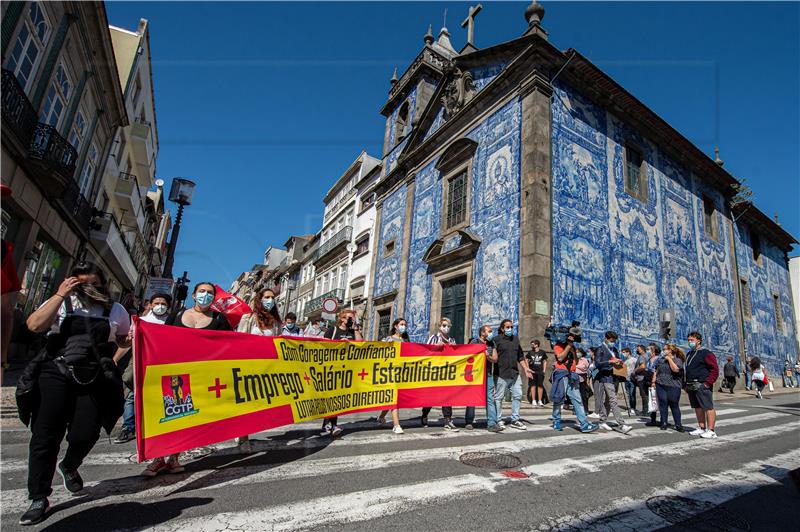
[[[16,392],[20,419],[31,424],[28,496],[33,501],[19,522],[32,525],[47,517],[56,471],[67,491],[83,490],[78,468],[100,429],[110,434],[122,415],[122,379],[111,358],[115,346],[129,345],[131,322],[125,308],[111,301],[103,271],[82,264],[26,324],[32,332],[48,332],[46,347],[25,369]],[[67,451],[59,462],[65,434]]]

